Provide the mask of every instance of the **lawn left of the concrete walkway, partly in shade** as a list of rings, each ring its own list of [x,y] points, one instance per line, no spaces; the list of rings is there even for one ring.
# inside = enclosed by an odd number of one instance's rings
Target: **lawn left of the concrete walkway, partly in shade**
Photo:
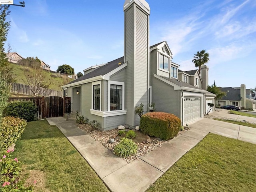
[[[23,175],[38,181],[34,191],[108,192],[62,132],[46,120],[28,122],[14,155],[24,163]],[[31,178],[38,174],[39,178]]]

